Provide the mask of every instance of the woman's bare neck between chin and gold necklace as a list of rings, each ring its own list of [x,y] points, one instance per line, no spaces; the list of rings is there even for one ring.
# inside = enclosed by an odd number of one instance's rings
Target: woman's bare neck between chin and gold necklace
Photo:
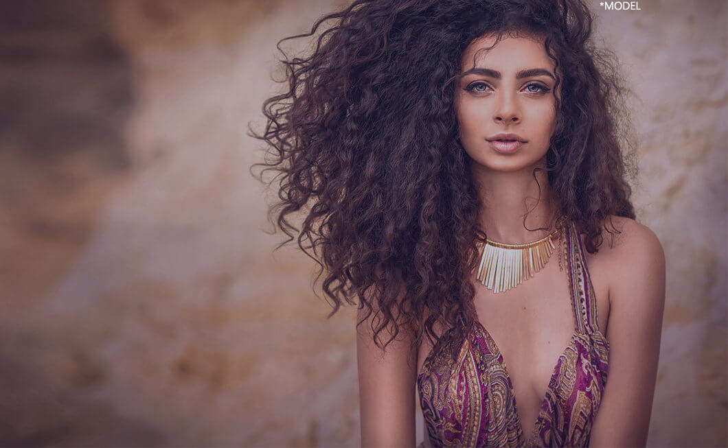
[[[543,164],[539,164],[539,167],[543,167]],[[504,172],[473,165],[472,174],[479,184],[478,194],[483,204],[478,225],[480,230],[486,232],[488,239],[507,244],[524,244],[553,232],[558,207],[548,183],[547,172],[537,170],[537,184],[533,169],[529,167]],[[545,230],[528,230],[536,228]]]

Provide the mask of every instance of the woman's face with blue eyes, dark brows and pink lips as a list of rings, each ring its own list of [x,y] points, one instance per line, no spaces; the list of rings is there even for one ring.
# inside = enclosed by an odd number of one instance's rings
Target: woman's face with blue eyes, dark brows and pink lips
[[[554,63],[543,41],[505,37],[489,51],[494,37],[483,36],[465,49],[455,93],[460,141],[482,167],[515,171],[539,164],[555,126]],[[489,141],[512,133],[516,142]],[[530,171],[530,170],[529,170]]]

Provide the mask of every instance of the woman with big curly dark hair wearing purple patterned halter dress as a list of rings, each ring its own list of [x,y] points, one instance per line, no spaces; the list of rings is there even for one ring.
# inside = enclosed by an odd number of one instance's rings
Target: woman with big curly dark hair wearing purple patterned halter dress
[[[332,19],[253,135],[358,305],[363,446],[414,446],[416,391],[427,446],[644,446],[665,257],[585,4],[357,0],[301,36]]]

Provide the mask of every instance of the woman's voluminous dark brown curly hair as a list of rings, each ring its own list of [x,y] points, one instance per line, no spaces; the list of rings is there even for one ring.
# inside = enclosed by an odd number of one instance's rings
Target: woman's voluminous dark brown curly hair
[[[306,57],[280,48],[329,20]],[[356,0],[278,42],[285,92],[265,100],[264,132],[249,126],[266,143],[253,167],[265,167],[261,182],[277,172],[268,186],[278,181],[280,201],[269,220],[288,239],[276,249],[298,235],[320,266],[316,281],[325,273],[329,317],[344,303],[358,305],[357,327],[374,313],[382,348],[400,328],[417,345],[423,335],[435,340],[436,322],[473,324],[464,311],[475,297],[481,204],[458,137],[453,81],[464,49],[484,34],[544,37],[563,74],[547,178],[587,251],[601,245],[606,217],[634,219],[625,180],[636,174],[627,163],[630,90],[614,54],[591,43],[592,22],[582,0]]]

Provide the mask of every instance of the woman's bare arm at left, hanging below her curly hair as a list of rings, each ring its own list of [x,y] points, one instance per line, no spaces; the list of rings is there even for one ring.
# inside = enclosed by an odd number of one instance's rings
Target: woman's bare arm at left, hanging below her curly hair
[[[357,327],[362,447],[414,447],[416,350],[411,350],[411,335],[403,326],[386,350],[375,345],[373,316]],[[389,337],[388,329],[379,333],[382,342]]]

